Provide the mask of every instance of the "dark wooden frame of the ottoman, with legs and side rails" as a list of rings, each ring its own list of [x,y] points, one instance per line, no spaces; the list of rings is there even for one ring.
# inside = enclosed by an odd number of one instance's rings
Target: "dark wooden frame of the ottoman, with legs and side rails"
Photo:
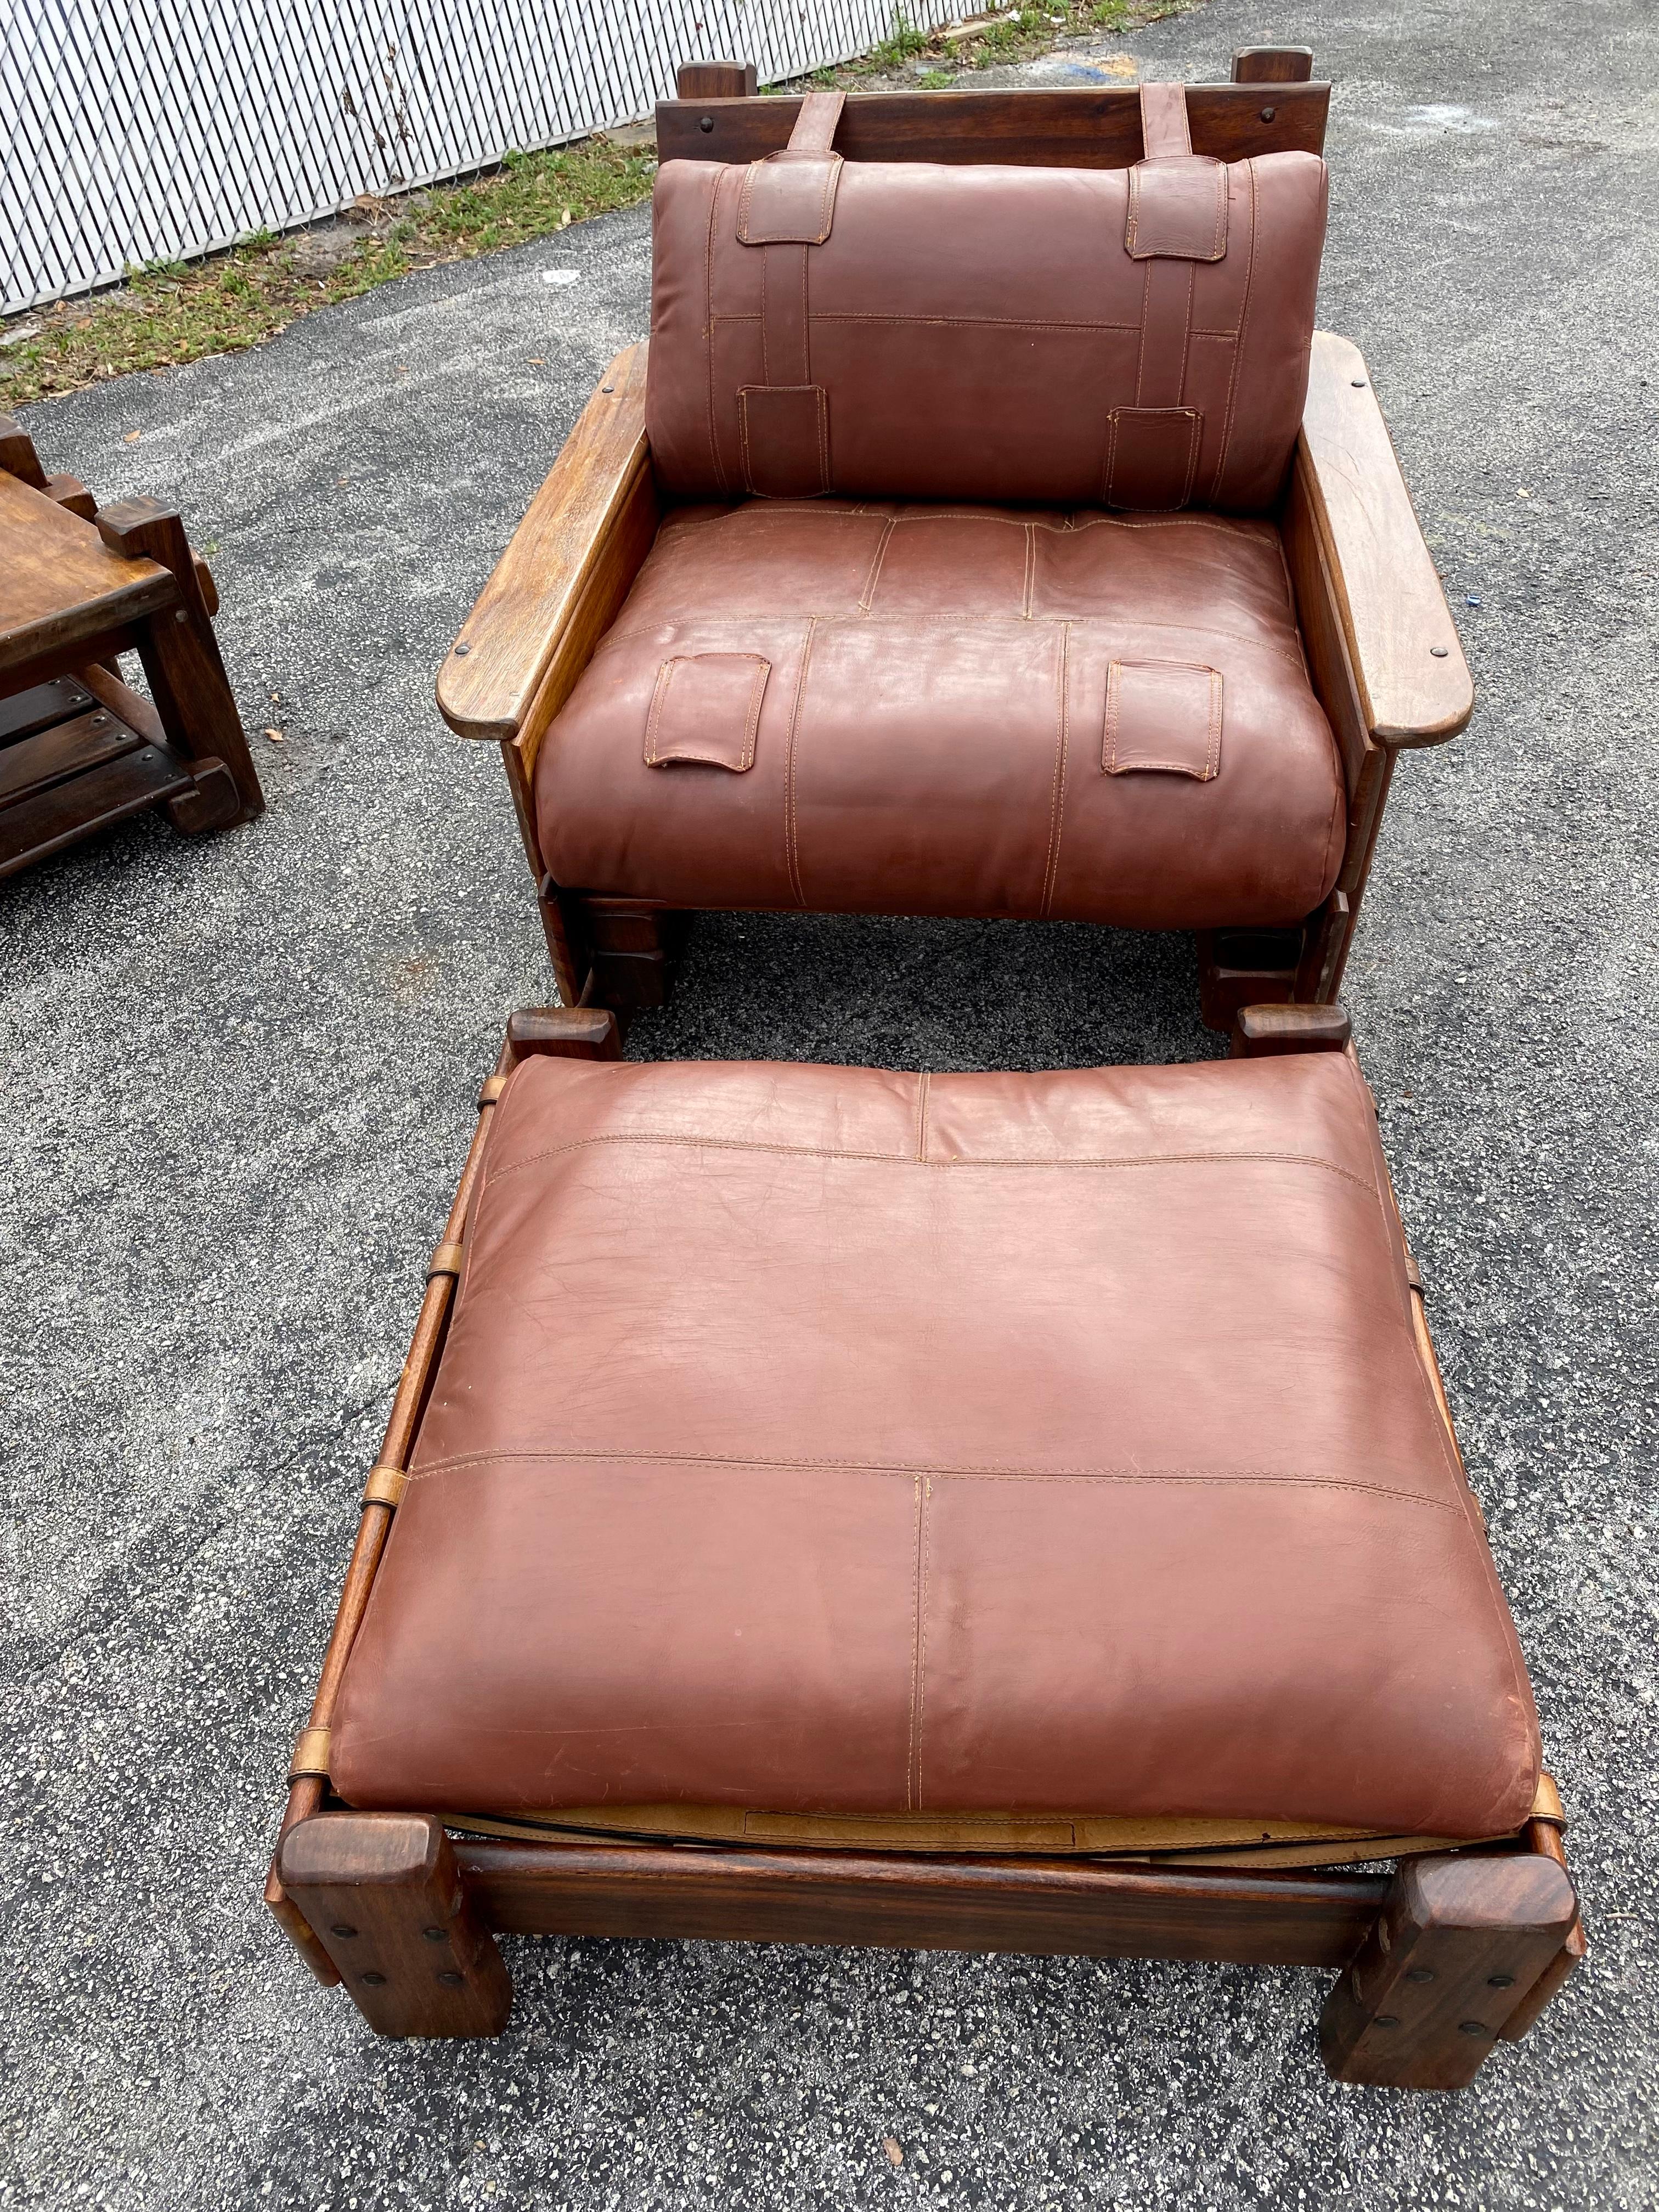
[[[1347,1015],[1340,1006],[1241,1011],[1237,1055],[1285,1051],[1352,1053]],[[1517,1836],[1402,1858],[1394,1874],[1296,1865],[1294,1849],[1194,1851],[1192,1823],[1179,1820],[1170,1823],[1170,1851],[1128,1863],[531,1843],[451,1836],[420,1807],[343,1809],[327,1783],[336,1694],[442,1354],[491,1113],[526,1053],[619,1060],[622,1040],[602,1009],[518,1013],[480,1093],[478,1128],[365,1489],[310,1723],[294,1750],[265,1887],[319,1982],[345,1982],[383,2035],[498,2035],[511,1984],[495,1933],[737,1938],[1329,1966],[1338,1980],[1321,2020],[1325,2066],[1343,2081],[1396,2088],[1460,2088],[1495,2042],[1526,2035],[1584,1955],[1562,1807],[1548,1781]],[[1420,1290],[1411,1305],[1451,1431]],[[1329,1845],[1323,1856],[1332,1856]]]

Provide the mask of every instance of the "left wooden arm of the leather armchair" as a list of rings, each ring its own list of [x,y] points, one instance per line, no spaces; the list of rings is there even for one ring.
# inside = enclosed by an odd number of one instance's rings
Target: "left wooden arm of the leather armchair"
[[[650,531],[637,544],[641,502]],[[630,345],[577,416],[553,473],[531,500],[445,659],[438,712],[456,737],[511,741],[526,734],[533,706],[542,728],[551,721],[564,701],[549,703],[538,692],[564,668],[568,697],[650,549],[655,522],[646,347]],[[617,591],[622,568],[626,575]],[[526,761],[526,772],[531,765]]]

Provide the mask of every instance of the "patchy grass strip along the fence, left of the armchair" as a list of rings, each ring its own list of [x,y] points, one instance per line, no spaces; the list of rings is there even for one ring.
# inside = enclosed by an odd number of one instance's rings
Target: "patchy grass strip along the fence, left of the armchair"
[[[301,314],[356,299],[409,270],[524,246],[588,215],[650,195],[650,150],[584,139],[555,153],[509,155],[473,184],[431,186],[407,201],[367,204],[369,226],[316,270],[316,234],[257,232],[228,254],[133,270],[106,299],[64,301],[24,321],[40,332],[0,352],[0,414],[133,369],[234,354]]]

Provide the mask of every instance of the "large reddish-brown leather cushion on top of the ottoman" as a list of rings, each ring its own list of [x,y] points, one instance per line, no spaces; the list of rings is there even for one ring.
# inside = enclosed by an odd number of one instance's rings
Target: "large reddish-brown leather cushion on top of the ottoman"
[[[1489,1836],[1537,1759],[1349,1060],[515,1071],[349,1803]]]

